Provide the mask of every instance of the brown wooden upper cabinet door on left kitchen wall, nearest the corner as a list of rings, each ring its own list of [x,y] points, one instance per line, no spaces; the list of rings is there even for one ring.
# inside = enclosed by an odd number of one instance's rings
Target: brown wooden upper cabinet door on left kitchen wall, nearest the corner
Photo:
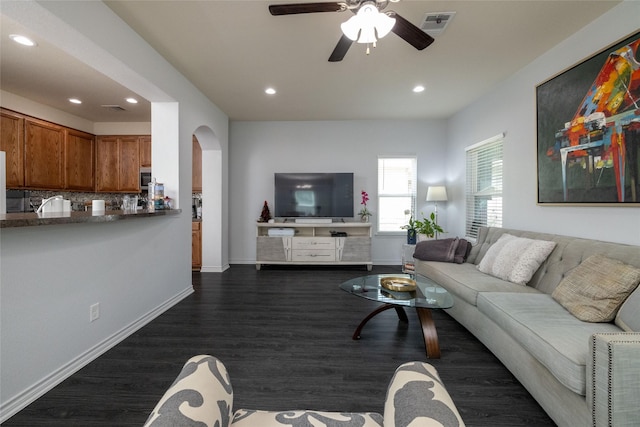
[[[65,188],[93,191],[95,138],[93,135],[73,129],[67,130],[65,141]]]

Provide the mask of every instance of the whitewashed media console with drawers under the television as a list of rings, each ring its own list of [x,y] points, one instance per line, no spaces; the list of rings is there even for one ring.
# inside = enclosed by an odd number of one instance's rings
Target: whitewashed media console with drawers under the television
[[[256,269],[262,265],[364,265],[371,271],[371,223],[258,222]]]

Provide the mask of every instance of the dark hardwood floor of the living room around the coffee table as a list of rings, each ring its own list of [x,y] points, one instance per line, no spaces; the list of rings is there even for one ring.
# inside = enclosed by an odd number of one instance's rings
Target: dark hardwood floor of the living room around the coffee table
[[[372,273],[398,273],[374,267]],[[195,293],[45,394],[3,426],[140,426],[184,362],[220,358],[234,407],[383,412],[395,368],[426,361],[415,310],[387,310],[338,288],[364,268],[234,265],[194,273]],[[468,426],[553,426],[522,385],[465,328],[433,313],[438,368]],[[260,426],[256,426],[260,427]]]

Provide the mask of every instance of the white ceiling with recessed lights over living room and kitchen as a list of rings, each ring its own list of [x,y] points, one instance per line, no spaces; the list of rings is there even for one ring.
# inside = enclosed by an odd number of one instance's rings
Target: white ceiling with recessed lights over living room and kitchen
[[[105,3],[232,120],[445,118],[564,40],[619,1],[411,1],[391,3],[419,25],[425,13],[456,12],[423,51],[390,33],[370,55],[354,43],[327,61],[351,12],[271,16],[269,4],[302,1],[133,1]],[[39,40],[36,53],[6,41],[2,90],[95,122],[150,119],[148,103]],[[15,29],[16,31],[18,29]],[[420,94],[416,84],[426,86]],[[268,96],[272,86],[277,94]],[[80,108],[67,98],[86,100]],[[119,104],[113,113],[100,105]],[[137,111],[146,118],[141,120]]]

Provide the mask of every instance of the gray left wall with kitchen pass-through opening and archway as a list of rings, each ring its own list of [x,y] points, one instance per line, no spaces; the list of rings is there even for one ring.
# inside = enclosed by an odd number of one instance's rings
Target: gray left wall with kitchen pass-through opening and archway
[[[25,1],[3,2],[2,13],[152,101],[152,121],[170,131],[156,138],[152,129],[154,173],[173,177],[172,197],[186,209],[165,218],[0,229],[0,422],[192,292],[196,129],[215,135],[223,160],[221,202],[211,211],[220,224],[211,241],[220,247],[228,218],[227,116],[110,9]],[[173,114],[158,120],[165,110]],[[227,248],[220,252],[224,265]],[[90,323],[96,302],[100,318]]]

